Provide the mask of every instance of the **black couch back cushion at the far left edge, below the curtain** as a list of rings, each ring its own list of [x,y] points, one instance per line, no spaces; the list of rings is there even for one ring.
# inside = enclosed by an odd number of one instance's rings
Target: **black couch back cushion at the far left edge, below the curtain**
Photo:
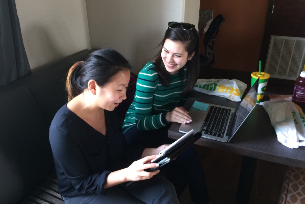
[[[0,88],[0,202],[16,203],[54,169],[48,126],[30,91]]]

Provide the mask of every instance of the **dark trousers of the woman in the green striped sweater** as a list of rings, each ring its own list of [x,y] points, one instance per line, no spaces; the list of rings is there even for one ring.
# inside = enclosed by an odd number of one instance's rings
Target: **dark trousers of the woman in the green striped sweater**
[[[127,143],[145,147],[159,147],[175,140],[167,137],[170,125],[151,131],[139,131],[136,126],[124,128]],[[166,178],[174,185],[178,198],[188,185],[191,199],[196,204],[210,202],[206,180],[199,156],[193,147],[183,151],[178,157],[164,166]],[[162,171],[162,170],[161,170]]]

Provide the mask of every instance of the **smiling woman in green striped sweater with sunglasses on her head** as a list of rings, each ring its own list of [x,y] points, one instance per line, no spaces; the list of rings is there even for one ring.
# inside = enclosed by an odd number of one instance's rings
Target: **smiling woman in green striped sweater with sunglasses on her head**
[[[165,32],[158,54],[140,71],[135,97],[123,124],[128,143],[145,147],[171,144],[171,122],[190,123],[182,107],[199,74],[199,34],[192,24],[176,23]],[[185,29],[187,28],[187,29]],[[195,149],[188,148],[166,167],[166,178],[178,197],[186,185],[195,203],[210,202],[203,170]]]

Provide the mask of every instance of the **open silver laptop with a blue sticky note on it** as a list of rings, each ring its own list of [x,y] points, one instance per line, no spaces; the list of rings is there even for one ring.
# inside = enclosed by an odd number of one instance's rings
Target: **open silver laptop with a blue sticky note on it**
[[[187,133],[193,129],[195,132],[202,132],[204,138],[229,142],[256,105],[258,81],[253,84],[236,110],[195,101],[188,113],[192,122],[181,124],[179,132]]]

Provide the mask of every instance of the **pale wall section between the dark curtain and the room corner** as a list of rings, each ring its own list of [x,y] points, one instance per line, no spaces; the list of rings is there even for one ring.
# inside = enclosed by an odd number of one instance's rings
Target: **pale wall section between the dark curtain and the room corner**
[[[16,0],[31,69],[90,49],[85,0]]]

